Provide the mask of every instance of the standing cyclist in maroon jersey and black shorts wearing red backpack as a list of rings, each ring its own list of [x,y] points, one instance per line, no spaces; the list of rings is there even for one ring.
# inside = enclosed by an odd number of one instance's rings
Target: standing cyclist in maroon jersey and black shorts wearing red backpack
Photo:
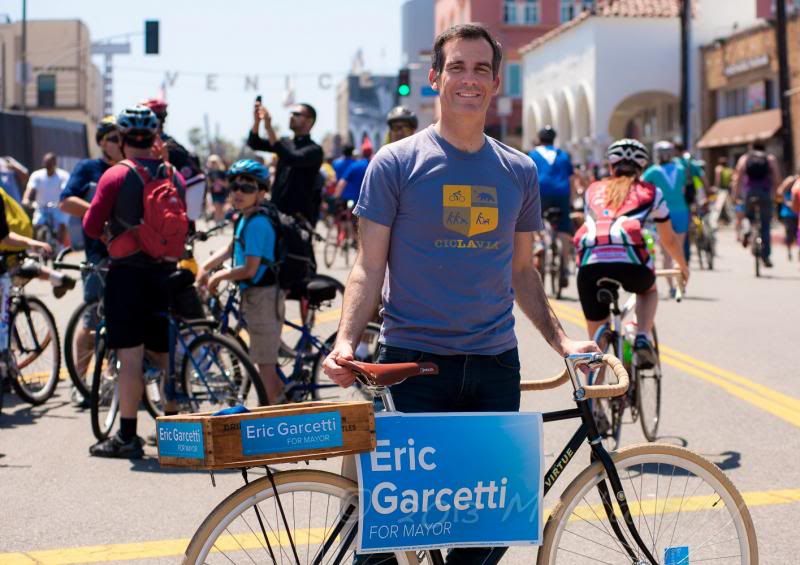
[[[189,228],[183,177],[154,158],[158,134],[155,114],[144,106],[117,117],[125,160],[100,178],[83,217],[89,237],[107,242],[110,256],[105,289],[108,346],[119,368],[120,429],[89,449],[97,457],[141,458],[136,414],[142,398],[144,350],[167,366],[169,277],[184,252]],[[174,414],[169,403],[167,414]]]

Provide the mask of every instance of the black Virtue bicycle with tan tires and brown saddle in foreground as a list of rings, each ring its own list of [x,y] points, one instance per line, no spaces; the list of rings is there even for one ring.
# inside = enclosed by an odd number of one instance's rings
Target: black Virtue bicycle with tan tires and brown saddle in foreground
[[[523,382],[523,390],[556,388],[570,381],[576,407],[543,414],[545,423],[579,419],[580,426],[544,475],[544,493],[564,473],[586,441],[591,463],[567,485],[549,511],[537,563],[691,562],[758,563],[750,513],[736,487],[710,461],[680,447],[640,445],[609,453],[600,441],[590,399],[624,394],[628,375],[608,355],[572,355],[553,379]],[[605,363],[614,385],[584,385],[581,368]],[[394,411],[389,385],[431,374],[430,363],[370,365],[343,362],[364,386]],[[378,438],[380,440],[380,438]],[[243,470],[245,481],[247,473]],[[541,480],[541,478],[539,479]],[[358,484],[325,471],[274,472],[223,500],[192,537],[183,562],[352,563],[359,530]],[[433,525],[433,524],[431,524]],[[391,557],[398,563],[444,563],[440,550],[409,548]],[[688,557],[683,560],[688,563]]]

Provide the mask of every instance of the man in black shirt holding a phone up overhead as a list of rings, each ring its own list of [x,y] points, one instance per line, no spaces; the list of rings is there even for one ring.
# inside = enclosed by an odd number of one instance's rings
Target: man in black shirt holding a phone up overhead
[[[322,166],[322,147],[311,140],[317,112],[310,104],[292,107],[289,129],[294,139],[278,139],[272,129],[272,116],[256,102],[253,127],[247,145],[256,151],[269,151],[278,155],[278,166],[272,185],[271,200],[278,210],[290,216],[300,215],[312,224],[319,212],[320,194],[315,194],[319,168]],[[259,124],[264,122],[267,139],[258,136]]]

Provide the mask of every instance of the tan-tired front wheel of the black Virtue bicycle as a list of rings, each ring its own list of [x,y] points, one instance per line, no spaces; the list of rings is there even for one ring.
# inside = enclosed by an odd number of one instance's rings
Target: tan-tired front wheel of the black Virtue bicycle
[[[625,448],[612,458],[633,524],[657,563],[758,563],[750,512],[713,463],[687,449],[658,444]],[[598,489],[607,479],[595,462],[567,487],[545,525],[538,565],[649,563],[617,504],[623,539],[612,530]]]

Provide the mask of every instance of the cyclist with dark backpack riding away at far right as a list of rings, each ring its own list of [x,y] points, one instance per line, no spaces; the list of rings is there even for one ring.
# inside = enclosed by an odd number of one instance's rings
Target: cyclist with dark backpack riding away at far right
[[[780,167],[774,155],[767,153],[767,148],[762,141],[755,141],[750,151],[739,157],[733,174],[733,197],[736,202],[737,232],[741,227],[744,216],[753,225],[756,209],[761,219],[761,259],[765,267],[772,267],[770,254],[770,223],[772,222],[772,207],[778,184],[781,182]],[[742,236],[742,245],[747,247],[750,234]]]

